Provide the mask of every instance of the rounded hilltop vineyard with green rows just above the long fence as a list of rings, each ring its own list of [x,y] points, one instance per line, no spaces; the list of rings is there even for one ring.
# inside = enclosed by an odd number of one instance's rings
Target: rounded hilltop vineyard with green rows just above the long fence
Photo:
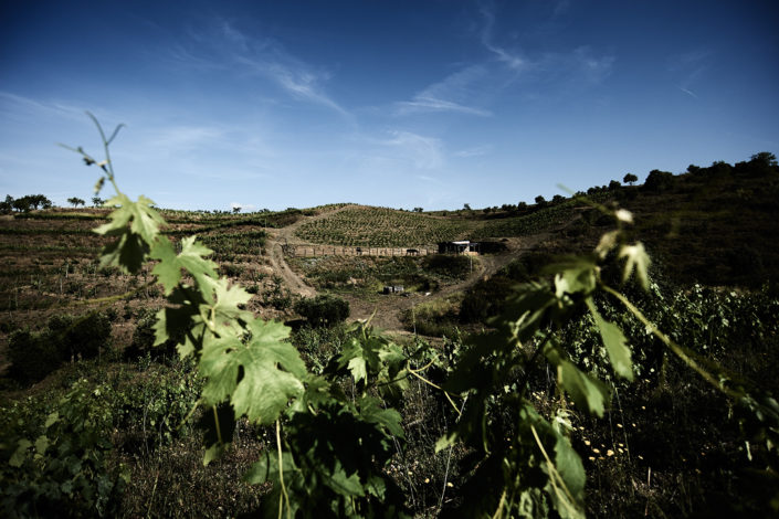
[[[328,245],[402,247],[467,237],[477,225],[474,221],[355,206],[304,223],[295,234],[307,242]]]

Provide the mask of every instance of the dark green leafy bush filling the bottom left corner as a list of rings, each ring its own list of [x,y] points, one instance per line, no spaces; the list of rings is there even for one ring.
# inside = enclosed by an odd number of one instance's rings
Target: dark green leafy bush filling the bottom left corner
[[[0,422],[0,510],[4,517],[115,516],[128,476],[107,463],[108,386],[77,381],[56,411],[25,416],[4,409]]]

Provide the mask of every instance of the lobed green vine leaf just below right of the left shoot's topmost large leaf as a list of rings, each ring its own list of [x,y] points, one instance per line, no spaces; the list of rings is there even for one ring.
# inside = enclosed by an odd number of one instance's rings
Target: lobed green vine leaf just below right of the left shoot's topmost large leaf
[[[181,240],[181,252],[176,254],[173,244],[167,236],[160,236],[155,242],[149,254],[150,257],[160,262],[151,271],[165,288],[165,295],[170,295],[181,279],[181,269],[186,269],[199,285],[203,285],[203,277],[218,277],[217,264],[204,256],[213,254],[213,251],[196,241],[196,236]]]

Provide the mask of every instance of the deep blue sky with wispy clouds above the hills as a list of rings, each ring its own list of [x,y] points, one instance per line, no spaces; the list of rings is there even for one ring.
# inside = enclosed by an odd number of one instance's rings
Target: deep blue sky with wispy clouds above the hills
[[[531,201],[779,155],[775,1],[6,1],[0,195]],[[109,192],[102,193],[104,198]]]

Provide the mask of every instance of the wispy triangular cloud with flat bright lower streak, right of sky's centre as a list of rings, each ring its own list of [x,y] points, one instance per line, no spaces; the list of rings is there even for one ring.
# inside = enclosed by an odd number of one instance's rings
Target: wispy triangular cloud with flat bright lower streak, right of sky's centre
[[[411,100],[396,103],[396,113],[407,115],[417,112],[454,112],[488,117],[492,115],[489,110],[466,104],[475,96],[474,85],[483,80],[486,73],[486,68],[481,65],[467,66],[428,86]]]

